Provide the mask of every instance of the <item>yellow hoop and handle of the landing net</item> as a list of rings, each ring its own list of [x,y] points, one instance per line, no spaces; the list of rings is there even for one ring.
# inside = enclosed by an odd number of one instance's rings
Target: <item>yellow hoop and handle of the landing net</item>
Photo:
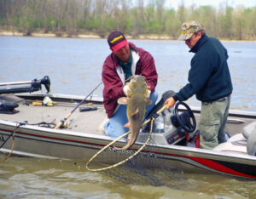
[[[166,105],[164,105],[164,106],[163,106],[159,111],[157,111],[156,113],[157,113],[157,114],[160,114],[160,113],[161,113],[162,111],[164,111],[165,109],[166,109]],[[149,134],[148,134],[148,139],[147,139],[146,142],[143,144],[143,146],[142,146],[138,151],[136,151],[133,155],[127,157],[125,160],[123,160],[123,161],[121,161],[121,162],[118,162],[118,163],[113,164],[113,165],[111,165],[111,166],[108,166],[108,167],[106,167],[106,168],[88,168],[89,163],[92,162],[92,161],[96,158],[96,156],[98,156],[99,154],[101,154],[102,151],[105,151],[110,145],[113,145],[113,143],[117,142],[119,139],[122,139],[122,138],[125,137],[127,134],[130,134],[130,133],[131,133],[131,131],[128,131],[127,133],[121,135],[119,138],[114,139],[114,140],[113,140],[112,142],[110,142],[108,145],[105,145],[100,151],[96,152],[96,154],[95,154],[94,156],[92,156],[92,157],[90,158],[90,160],[87,162],[86,168],[87,168],[89,171],[99,172],[99,171],[108,170],[108,169],[110,169],[110,168],[116,168],[116,167],[118,167],[119,165],[121,165],[121,164],[127,162],[128,160],[131,160],[131,158],[133,158],[134,156],[136,156],[136,155],[137,155],[140,151],[142,151],[143,148],[148,144],[148,141],[149,141],[149,139],[150,139],[150,137],[151,137],[151,134],[152,134],[154,117],[148,119],[146,122],[143,122],[143,124],[142,124],[142,126],[143,126],[143,125],[147,124],[147,123],[150,122],[150,121],[151,121],[151,125],[150,125],[150,132],[149,132]]]

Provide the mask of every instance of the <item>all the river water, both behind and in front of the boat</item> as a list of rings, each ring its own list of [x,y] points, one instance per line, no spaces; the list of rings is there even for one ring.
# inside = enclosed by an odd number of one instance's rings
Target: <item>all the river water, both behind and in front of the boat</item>
[[[159,73],[159,94],[187,82],[193,54],[179,41],[131,40],[148,50]],[[224,41],[234,91],[230,109],[256,111],[256,42]],[[48,75],[51,93],[87,95],[101,82],[110,53],[103,39],[0,37],[0,82],[31,81]],[[44,89],[44,88],[43,88]],[[45,89],[44,89],[45,90]],[[102,96],[102,87],[94,93]],[[200,106],[195,97],[189,105]],[[65,117],[65,116],[63,116]],[[0,159],[3,155],[0,155]],[[154,173],[160,176],[159,173]],[[123,183],[84,165],[11,156],[0,163],[3,198],[253,198],[256,183],[219,175],[173,175],[172,185]],[[181,183],[182,181],[182,183]]]

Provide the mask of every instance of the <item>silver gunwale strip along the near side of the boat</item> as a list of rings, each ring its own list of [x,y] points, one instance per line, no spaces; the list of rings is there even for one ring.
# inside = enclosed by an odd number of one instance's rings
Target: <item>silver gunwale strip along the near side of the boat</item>
[[[12,127],[15,129],[17,123],[16,122],[9,122],[9,121],[3,121],[0,120],[0,131],[9,132],[9,134],[12,132],[12,129],[3,129],[1,128],[1,125],[7,125],[9,127]],[[32,133],[24,133],[22,132],[22,129],[30,130],[30,131],[37,131],[38,134],[32,134]],[[58,135],[58,136],[46,136],[45,134],[50,135]],[[72,143],[80,143],[83,145],[98,145],[98,146],[105,146],[108,145],[111,141],[113,141],[113,138],[108,137],[107,135],[100,135],[100,134],[89,134],[89,133],[81,133],[81,132],[73,132],[68,130],[61,130],[61,129],[52,129],[52,128],[42,128],[42,127],[35,127],[32,125],[24,125],[20,126],[20,130],[18,130],[15,134],[16,137],[25,137],[26,136],[36,136],[38,137],[47,137],[46,139],[50,140],[62,140],[64,142],[72,142]],[[68,137],[71,137],[73,139],[67,139]],[[79,140],[79,139],[91,139],[91,140],[97,140],[95,142],[88,142],[85,140]],[[40,140],[40,139],[38,139]],[[125,140],[119,140],[119,143],[117,146],[124,145]],[[65,145],[65,144],[64,144]],[[135,145],[133,145],[132,148],[130,148],[128,151],[137,151],[143,143],[137,142]],[[232,162],[241,163],[241,159],[245,162],[251,162],[250,164],[256,166],[256,156],[249,156],[247,154],[240,154],[240,153],[231,153],[226,151],[212,151],[212,150],[206,150],[206,149],[200,149],[200,148],[194,148],[189,146],[182,146],[182,145],[157,145],[157,144],[148,144],[148,147],[150,147],[150,151],[147,151],[149,153],[157,153],[164,156],[188,156],[186,153],[189,153],[189,156],[192,157],[199,157],[199,158],[206,158],[205,156],[209,156],[207,158],[210,158],[212,160],[224,160],[227,161],[228,159],[232,159]],[[156,149],[152,151],[152,149]],[[175,152],[166,152],[168,150],[172,150]],[[145,151],[143,151],[145,152]],[[192,153],[192,154],[191,154]]]

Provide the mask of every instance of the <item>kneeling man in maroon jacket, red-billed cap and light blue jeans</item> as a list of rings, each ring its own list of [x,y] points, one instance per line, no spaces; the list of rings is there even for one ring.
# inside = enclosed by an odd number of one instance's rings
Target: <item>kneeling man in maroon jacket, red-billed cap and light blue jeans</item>
[[[128,122],[126,105],[118,105],[117,100],[127,95],[129,79],[133,75],[142,75],[148,84],[151,105],[146,106],[146,114],[152,110],[158,98],[154,91],[157,84],[157,72],[154,58],[143,48],[137,48],[133,43],[128,43],[121,31],[112,31],[108,36],[108,45],[112,51],[104,61],[102,68],[103,102],[108,114],[108,122],[104,124],[105,133],[117,138],[125,134]]]

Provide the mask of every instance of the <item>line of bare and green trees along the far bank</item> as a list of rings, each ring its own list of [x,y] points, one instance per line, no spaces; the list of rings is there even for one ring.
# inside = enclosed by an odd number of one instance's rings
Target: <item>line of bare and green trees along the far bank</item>
[[[75,37],[93,33],[108,36],[113,30],[134,38],[140,35],[166,35],[176,39],[186,20],[200,21],[212,37],[255,39],[256,7],[235,9],[225,4],[167,9],[165,0],[0,0],[0,28]]]

